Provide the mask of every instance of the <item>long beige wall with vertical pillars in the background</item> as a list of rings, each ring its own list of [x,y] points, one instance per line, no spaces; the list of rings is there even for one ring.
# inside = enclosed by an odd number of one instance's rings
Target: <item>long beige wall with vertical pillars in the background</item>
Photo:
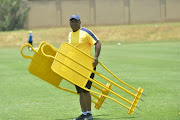
[[[82,25],[180,21],[180,0],[29,0],[26,28],[68,26],[78,14]]]

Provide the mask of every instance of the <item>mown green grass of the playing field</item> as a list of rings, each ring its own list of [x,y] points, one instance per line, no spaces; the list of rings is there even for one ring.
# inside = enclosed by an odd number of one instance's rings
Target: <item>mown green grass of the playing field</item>
[[[180,41],[103,44],[100,61],[124,82],[142,87],[147,97],[142,96],[145,102],[138,103],[142,111],[135,109],[139,114],[132,116],[106,99],[104,109],[92,109],[94,120],[179,120],[179,46]],[[24,52],[33,54],[26,49]],[[0,48],[0,120],[71,120],[81,114],[77,95],[31,75],[29,63],[19,48]],[[97,71],[115,81],[102,67],[98,66]],[[66,82],[63,87],[75,90]],[[116,87],[113,89],[132,100]]]

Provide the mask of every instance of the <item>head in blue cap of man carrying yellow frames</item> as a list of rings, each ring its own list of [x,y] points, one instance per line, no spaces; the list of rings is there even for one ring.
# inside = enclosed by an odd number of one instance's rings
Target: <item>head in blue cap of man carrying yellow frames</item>
[[[81,27],[81,20],[78,15],[72,15],[69,19],[69,23],[74,32],[79,30]]]

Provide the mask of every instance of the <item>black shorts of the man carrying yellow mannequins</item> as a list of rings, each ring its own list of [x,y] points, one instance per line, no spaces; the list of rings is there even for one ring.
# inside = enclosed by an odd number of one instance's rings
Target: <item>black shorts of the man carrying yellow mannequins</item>
[[[94,68],[94,70],[96,70],[96,68]],[[90,78],[91,79],[94,78],[94,73],[91,74]],[[90,80],[88,80],[88,82],[86,84],[86,88],[91,89],[91,85],[92,85],[92,82]],[[89,91],[86,91],[86,90],[82,89],[81,87],[79,87],[77,85],[75,85],[75,87],[76,87],[77,93],[87,93],[87,92],[89,92]]]

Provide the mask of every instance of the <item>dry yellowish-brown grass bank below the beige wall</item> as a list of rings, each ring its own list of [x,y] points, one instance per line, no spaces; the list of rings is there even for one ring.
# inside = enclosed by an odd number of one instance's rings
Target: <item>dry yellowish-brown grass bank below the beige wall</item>
[[[138,42],[180,40],[180,23],[121,25],[121,26],[87,26],[102,42]],[[21,46],[28,40],[29,30],[0,32],[0,47]],[[34,45],[47,41],[60,45],[68,41],[70,27],[34,29]]]

